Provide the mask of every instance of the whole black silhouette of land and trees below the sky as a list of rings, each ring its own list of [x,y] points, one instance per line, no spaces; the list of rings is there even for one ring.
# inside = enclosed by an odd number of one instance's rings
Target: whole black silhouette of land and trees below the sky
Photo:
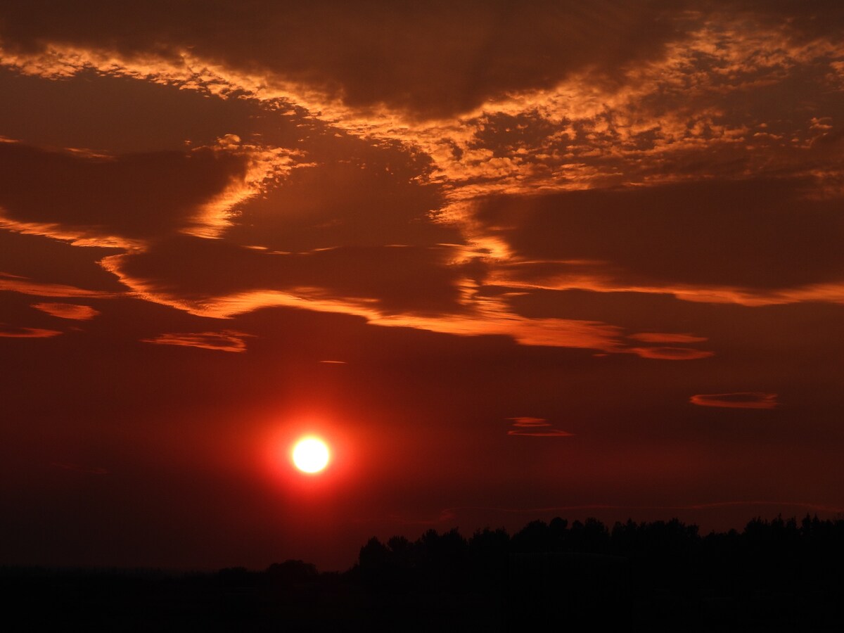
[[[755,518],[701,535],[677,519],[557,517],[512,535],[373,537],[344,572],[302,560],[178,574],[4,567],[0,592],[27,629],[832,630],[842,562],[844,520]]]

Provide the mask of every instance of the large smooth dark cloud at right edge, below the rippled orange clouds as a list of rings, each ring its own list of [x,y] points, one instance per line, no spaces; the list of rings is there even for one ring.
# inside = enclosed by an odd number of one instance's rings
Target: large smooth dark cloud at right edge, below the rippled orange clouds
[[[765,295],[844,282],[840,203],[809,191],[807,181],[762,179],[493,196],[467,221],[511,253],[510,268],[493,267],[502,286],[512,275],[540,286]]]

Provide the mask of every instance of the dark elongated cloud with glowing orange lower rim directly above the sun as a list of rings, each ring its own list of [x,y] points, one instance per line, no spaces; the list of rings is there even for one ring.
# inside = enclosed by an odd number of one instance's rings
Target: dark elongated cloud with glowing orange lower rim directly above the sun
[[[281,253],[183,236],[102,263],[136,295],[204,317],[289,306],[344,312],[388,327],[625,351],[617,327],[527,319],[509,311],[505,301],[479,295],[469,278],[473,268],[455,262],[462,252],[441,245]]]

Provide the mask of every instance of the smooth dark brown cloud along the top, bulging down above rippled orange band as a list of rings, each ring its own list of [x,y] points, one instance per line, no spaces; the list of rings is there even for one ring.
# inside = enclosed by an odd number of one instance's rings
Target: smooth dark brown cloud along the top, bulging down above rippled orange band
[[[21,63],[62,48],[78,51],[76,63],[86,51],[153,67],[156,60],[177,65],[189,56],[192,68],[216,69],[243,83],[260,78],[270,87],[315,93],[312,100],[339,100],[359,111],[386,105],[438,118],[506,93],[552,87],[581,70],[617,77],[620,68],[660,57],[665,43],[679,35],[683,15],[658,3],[583,8],[576,2],[481,0],[252,2],[242,12],[224,2],[201,8],[151,2],[119,16],[110,8],[94,0],[74,10],[53,2],[7,9],[0,12],[0,38],[10,57],[23,57]],[[40,63],[67,73],[73,61]]]

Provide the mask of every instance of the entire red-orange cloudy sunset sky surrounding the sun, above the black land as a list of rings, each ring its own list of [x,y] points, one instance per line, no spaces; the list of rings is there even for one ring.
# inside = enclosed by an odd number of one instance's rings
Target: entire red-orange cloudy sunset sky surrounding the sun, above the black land
[[[831,1],[0,3],[0,564],[841,517],[842,32]]]

